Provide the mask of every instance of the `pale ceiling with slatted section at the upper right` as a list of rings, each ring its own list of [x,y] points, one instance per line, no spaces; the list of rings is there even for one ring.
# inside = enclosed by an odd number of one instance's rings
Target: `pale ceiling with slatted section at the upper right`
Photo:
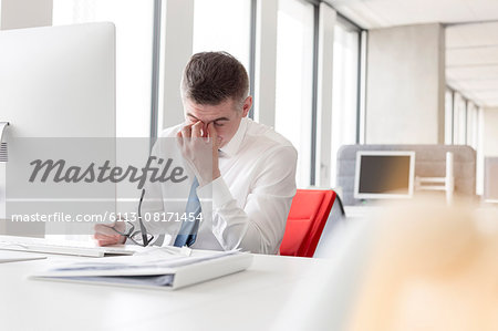
[[[446,80],[480,106],[498,107],[498,0],[326,0],[364,29],[440,22]]]

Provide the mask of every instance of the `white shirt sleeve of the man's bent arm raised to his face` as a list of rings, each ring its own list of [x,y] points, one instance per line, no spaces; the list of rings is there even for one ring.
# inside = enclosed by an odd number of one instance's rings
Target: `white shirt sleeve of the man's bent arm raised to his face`
[[[204,221],[210,223],[225,250],[278,252],[295,195],[297,158],[291,146],[279,146],[260,157],[243,208],[238,206],[222,177],[197,188]]]

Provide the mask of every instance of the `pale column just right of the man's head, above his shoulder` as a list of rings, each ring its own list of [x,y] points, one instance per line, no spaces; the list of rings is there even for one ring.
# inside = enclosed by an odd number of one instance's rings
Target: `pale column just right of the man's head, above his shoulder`
[[[274,126],[278,0],[258,0],[256,28],[255,118]]]

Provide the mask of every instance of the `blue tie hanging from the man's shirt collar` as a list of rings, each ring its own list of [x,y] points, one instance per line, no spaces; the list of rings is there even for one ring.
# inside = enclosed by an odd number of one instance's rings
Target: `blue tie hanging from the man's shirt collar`
[[[176,247],[191,246],[196,241],[197,230],[199,229],[197,217],[200,214],[200,201],[196,192],[198,186],[199,182],[195,178],[188,195],[187,207],[185,208],[186,220],[181,223],[181,228],[176,236],[175,244],[173,244]],[[194,219],[191,219],[191,216],[194,216]]]

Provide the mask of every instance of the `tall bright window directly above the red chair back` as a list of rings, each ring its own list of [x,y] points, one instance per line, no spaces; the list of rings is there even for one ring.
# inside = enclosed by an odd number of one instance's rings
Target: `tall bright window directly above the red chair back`
[[[298,187],[308,187],[311,175],[313,23],[313,4],[279,1],[276,131],[298,149]]]

